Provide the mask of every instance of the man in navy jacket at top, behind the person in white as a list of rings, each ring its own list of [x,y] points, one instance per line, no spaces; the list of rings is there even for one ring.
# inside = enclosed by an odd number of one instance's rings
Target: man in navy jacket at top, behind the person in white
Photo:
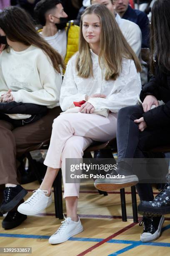
[[[149,47],[149,19],[146,13],[130,7],[129,0],[114,0],[115,10],[121,18],[136,23],[142,32],[142,48]]]

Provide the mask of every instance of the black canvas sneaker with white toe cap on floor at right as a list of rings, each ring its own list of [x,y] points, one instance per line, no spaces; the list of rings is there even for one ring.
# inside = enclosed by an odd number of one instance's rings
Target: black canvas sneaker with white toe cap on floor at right
[[[143,220],[139,223],[140,226],[143,224],[143,233],[140,236],[140,241],[150,242],[160,237],[164,220],[164,216],[143,216]]]

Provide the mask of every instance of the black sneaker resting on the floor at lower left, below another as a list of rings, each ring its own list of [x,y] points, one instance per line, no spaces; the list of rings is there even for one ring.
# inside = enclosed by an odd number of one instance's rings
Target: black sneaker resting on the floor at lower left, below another
[[[27,215],[21,214],[18,211],[8,212],[5,219],[2,220],[2,228],[16,228],[26,219]]]

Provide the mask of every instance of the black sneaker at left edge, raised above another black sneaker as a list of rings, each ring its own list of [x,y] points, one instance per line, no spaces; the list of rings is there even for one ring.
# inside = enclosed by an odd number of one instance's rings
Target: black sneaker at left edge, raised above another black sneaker
[[[25,195],[27,195],[27,190],[17,185],[16,187],[6,187],[4,189],[3,200],[0,205],[0,212],[2,214],[10,212],[13,208],[20,202]]]

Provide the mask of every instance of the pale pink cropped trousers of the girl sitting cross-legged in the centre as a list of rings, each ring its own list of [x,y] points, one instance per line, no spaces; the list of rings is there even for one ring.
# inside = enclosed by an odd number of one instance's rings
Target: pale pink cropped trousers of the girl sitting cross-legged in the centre
[[[54,119],[50,146],[44,164],[62,169],[64,198],[79,197],[80,184],[65,183],[65,159],[79,158],[92,141],[109,141],[116,137],[117,113],[105,118],[96,114],[67,113]]]

